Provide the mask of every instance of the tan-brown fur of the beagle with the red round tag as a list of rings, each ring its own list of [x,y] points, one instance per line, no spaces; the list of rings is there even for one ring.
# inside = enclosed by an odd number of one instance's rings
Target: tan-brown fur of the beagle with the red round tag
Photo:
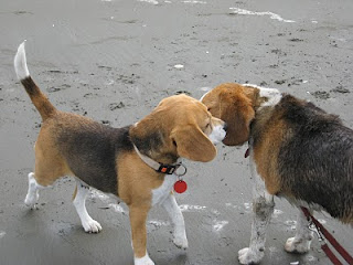
[[[55,109],[30,78],[22,81],[22,84],[43,118],[35,142],[36,182],[47,187],[63,176],[81,177],[73,172],[64,155],[65,150],[73,149],[72,146],[66,145],[72,145],[74,141],[61,140],[63,134],[68,134],[67,137],[83,130],[101,134],[108,127],[89,118]],[[210,120],[214,124],[220,123],[218,119],[212,118],[206,107],[196,99],[178,95],[162,100],[150,115],[136,126],[131,126],[129,135],[131,139],[138,138],[141,142],[148,142],[151,135],[159,131],[161,142],[150,146],[146,153],[156,161],[173,163],[178,157],[185,157],[206,162],[216,156],[215,147],[203,132]],[[143,151],[143,148],[140,149]],[[81,153],[72,155],[81,156]],[[142,257],[146,254],[145,222],[151,208],[151,191],[162,184],[164,176],[147,166],[132,148],[119,152],[115,160],[118,190],[114,191],[110,187],[93,187],[115,193],[127,203],[130,211],[135,254],[137,257]],[[77,166],[83,172],[92,169],[85,162]]]

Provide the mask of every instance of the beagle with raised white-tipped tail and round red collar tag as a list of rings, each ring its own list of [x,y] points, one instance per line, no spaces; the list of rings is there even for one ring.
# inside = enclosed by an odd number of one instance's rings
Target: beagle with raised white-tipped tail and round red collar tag
[[[85,232],[101,230],[85,206],[89,187],[126,202],[136,265],[154,264],[146,247],[146,221],[150,209],[158,204],[171,218],[174,244],[186,248],[184,219],[172,192],[178,180],[174,172],[180,166],[178,160],[207,162],[214,159],[214,145],[226,134],[225,123],[212,117],[200,100],[176,95],[161,100],[137,124],[113,128],[57,110],[30,76],[24,43],[18,49],[14,68],[43,120],[24,203],[35,208],[39,190],[61,177],[72,176],[77,182],[73,204]]]

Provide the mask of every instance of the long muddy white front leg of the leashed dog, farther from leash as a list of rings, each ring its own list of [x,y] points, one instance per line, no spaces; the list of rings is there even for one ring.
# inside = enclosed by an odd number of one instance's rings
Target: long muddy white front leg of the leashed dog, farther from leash
[[[257,264],[265,255],[266,229],[274,213],[274,195],[270,195],[265,188],[265,182],[256,172],[253,165],[253,176],[255,177],[255,190],[253,200],[253,224],[252,239],[249,247],[238,252],[238,258],[242,264]]]

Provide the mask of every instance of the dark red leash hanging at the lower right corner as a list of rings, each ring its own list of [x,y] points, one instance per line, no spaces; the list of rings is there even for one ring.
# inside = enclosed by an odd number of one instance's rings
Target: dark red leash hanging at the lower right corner
[[[343,248],[343,246],[332,236],[332,234],[330,234],[330,232],[328,230],[325,230],[325,227],[322,226],[322,224],[314,218],[311,215],[311,213],[309,212],[309,210],[307,208],[301,206],[301,211],[303,212],[303,214],[307,216],[308,221],[309,221],[309,225],[310,223],[313,223],[315,225],[315,229],[318,231],[318,235],[319,235],[319,241],[323,241],[324,239],[323,236],[330,242],[330,244],[338,251],[338,253],[341,254],[341,256],[350,264],[353,265],[353,257]],[[327,254],[327,256],[330,258],[330,261],[332,262],[332,264],[334,265],[342,265],[342,263],[339,261],[339,258],[333,254],[333,252],[330,250],[330,247],[328,246],[328,244],[324,242],[321,245],[322,251]]]

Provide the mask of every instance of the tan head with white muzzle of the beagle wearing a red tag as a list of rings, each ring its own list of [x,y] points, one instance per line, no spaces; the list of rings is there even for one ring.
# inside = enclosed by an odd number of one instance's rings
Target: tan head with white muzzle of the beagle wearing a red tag
[[[207,162],[216,156],[215,144],[225,137],[225,123],[205,105],[186,95],[167,97],[151,114],[137,123],[130,136],[140,151],[160,161],[184,157]]]

